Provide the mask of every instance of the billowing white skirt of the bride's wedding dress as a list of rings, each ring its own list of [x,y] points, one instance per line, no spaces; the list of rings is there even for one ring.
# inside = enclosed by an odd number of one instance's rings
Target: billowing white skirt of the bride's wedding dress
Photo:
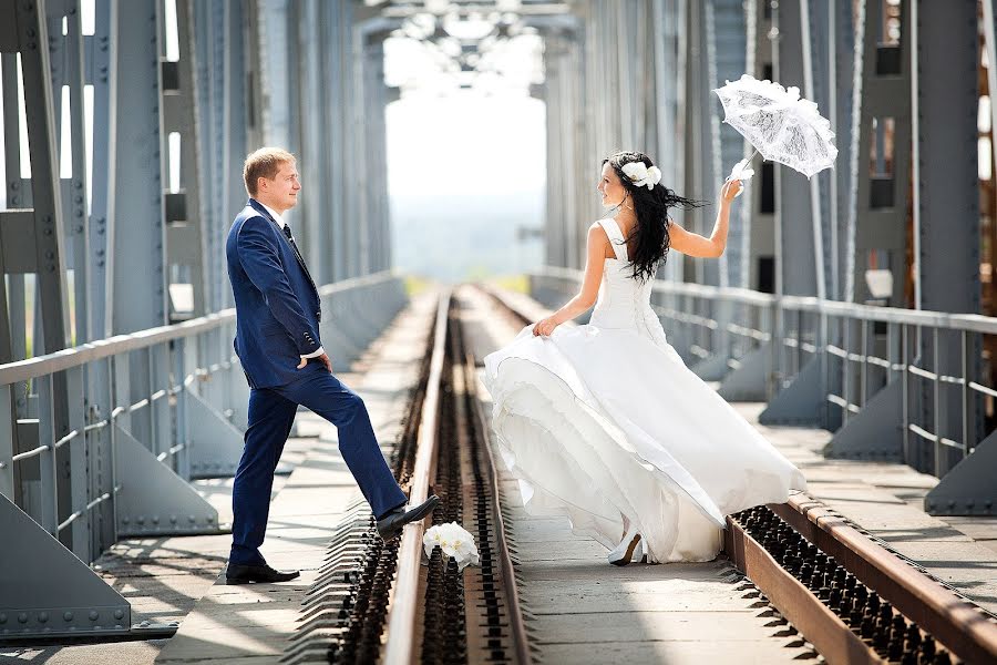
[[[607,548],[626,516],[650,561],[710,561],[724,515],[806,487],[669,344],[634,329],[526,327],[485,358],[483,381],[527,512],[564,514]]]

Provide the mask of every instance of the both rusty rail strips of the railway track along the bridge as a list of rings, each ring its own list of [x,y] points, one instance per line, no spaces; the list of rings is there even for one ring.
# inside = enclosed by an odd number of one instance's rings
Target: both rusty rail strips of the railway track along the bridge
[[[543,314],[528,298],[485,293],[515,326]],[[471,532],[481,566],[459,572],[439,550],[426,561],[424,523],[383,543],[358,502],[306,597],[285,663],[531,661],[458,308],[441,296],[391,463],[413,503],[440,495],[433,522]],[[757,593],[829,663],[997,663],[995,617],[805,495],[730,515],[724,553],[747,576],[738,591]]]

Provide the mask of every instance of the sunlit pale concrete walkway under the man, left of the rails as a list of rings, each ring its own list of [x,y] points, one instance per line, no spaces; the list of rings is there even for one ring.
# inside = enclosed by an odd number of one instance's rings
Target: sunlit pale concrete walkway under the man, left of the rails
[[[425,338],[434,314],[431,295],[414,299],[354,364],[364,374],[337,371],[337,377],[363,396],[382,442],[391,443],[398,436],[399,415],[403,412],[403,405],[398,402],[404,401],[407,377],[418,372],[413,364],[424,355],[419,347],[420,335]],[[3,647],[0,664],[148,665],[163,656],[171,662],[198,664],[275,663],[275,654],[284,649],[287,635],[296,627],[300,598],[338,523],[341,511],[337,512],[337,507],[348,505],[359,495],[338,453],[332,426],[300,410],[294,433],[281,463],[295,471],[275,479],[274,495],[280,498],[288,488],[292,491],[271,504],[264,552],[278,567],[306,569],[299,580],[288,585],[215,584],[232,544],[227,533],[121,541],[95,562],[94,569],[132,604],[134,623],[182,622],[177,636],[169,641]],[[390,451],[390,444],[384,449]],[[232,521],[232,479],[201,480],[195,487],[218,509],[223,523]],[[195,604],[198,610],[191,615]],[[192,622],[194,617],[199,618]],[[238,638],[243,634],[245,641]],[[238,648],[213,651],[226,643]]]

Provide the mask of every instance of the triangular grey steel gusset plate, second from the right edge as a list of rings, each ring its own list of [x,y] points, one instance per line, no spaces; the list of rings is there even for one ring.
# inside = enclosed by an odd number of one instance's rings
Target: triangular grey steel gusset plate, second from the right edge
[[[824,449],[829,458],[904,461],[903,382],[876,392]]]

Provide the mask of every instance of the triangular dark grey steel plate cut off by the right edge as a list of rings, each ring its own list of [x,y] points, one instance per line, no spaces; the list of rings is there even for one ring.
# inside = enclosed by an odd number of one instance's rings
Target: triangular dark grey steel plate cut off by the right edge
[[[980,441],[924,498],[931,515],[993,515],[997,508],[997,431]]]

